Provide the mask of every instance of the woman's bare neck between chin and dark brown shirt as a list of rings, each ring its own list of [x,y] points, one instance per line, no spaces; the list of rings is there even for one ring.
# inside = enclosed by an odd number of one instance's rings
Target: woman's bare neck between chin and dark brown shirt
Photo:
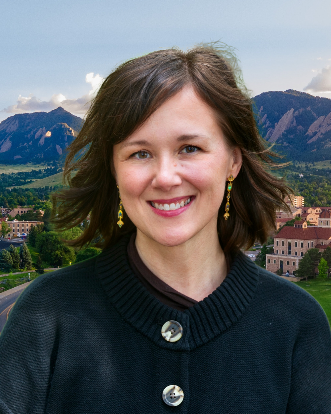
[[[196,301],[211,294],[226,276],[216,225],[206,227],[174,247],[163,246],[137,229],[136,247],[144,264],[163,282]]]

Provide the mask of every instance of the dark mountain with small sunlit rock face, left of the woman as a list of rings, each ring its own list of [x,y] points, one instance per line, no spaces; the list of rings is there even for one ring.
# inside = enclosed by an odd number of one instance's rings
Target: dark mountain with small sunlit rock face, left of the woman
[[[60,106],[10,116],[0,123],[0,163],[58,160],[83,122]]]

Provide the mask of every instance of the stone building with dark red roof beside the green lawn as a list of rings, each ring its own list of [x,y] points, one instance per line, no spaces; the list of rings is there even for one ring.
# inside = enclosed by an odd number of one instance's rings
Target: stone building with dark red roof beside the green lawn
[[[295,221],[294,226],[283,227],[274,236],[273,254],[266,255],[266,270],[295,274],[299,260],[311,248],[323,250],[331,247],[331,211],[321,210],[318,226],[307,226],[304,220]]]

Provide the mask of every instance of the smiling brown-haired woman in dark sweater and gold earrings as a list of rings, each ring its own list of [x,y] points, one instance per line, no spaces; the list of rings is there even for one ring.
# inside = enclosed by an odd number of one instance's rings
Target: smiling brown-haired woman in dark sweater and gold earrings
[[[91,214],[76,246],[105,248],[17,301],[0,412],[330,413],[323,310],[240,252],[286,207],[271,155],[212,48],[110,74],[55,200],[59,227]]]

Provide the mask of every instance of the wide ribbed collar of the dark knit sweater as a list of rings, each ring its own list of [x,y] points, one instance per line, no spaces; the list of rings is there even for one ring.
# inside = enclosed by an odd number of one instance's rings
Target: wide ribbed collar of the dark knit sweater
[[[96,272],[110,303],[136,330],[159,347],[190,350],[209,342],[239,320],[257,288],[259,270],[239,253],[222,284],[203,301],[181,312],[161,303],[134,276],[127,258],[130,235],[98,256]],[[183,327],[177,342],[167,342],[161,327],[176,320]]]

